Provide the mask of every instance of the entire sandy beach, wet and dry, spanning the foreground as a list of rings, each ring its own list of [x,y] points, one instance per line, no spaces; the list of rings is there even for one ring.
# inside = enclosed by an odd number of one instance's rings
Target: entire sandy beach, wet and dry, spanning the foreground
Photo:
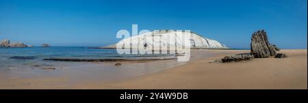
[[[283,59],[209,63],[224,55],[238,53],[249,53],[249,50],[192,50],[191,61],[162,70],[159,68],[164,66],[159,64],[168,64],[171,60],[146,62],[146,65],[124,63],[117,66],[123,68],[123,74],[133,71],[131,65],[158,70],[110,80],[101,80],[107,78],[100,75],[104,70],[99,68],[108,65],[105,63],[50,70],[61,74],[36,78],[0,72],[0,89],[307,89],[307,49],[281,50],[279,53],[288,56]],[[108,66],[115,65],[110,63]]]

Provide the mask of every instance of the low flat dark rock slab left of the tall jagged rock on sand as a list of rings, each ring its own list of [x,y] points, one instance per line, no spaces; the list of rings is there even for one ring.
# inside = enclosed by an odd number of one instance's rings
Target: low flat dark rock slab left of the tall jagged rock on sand
[[[254,57],[253,55],[231,55],[225,56],[224,58],[220,59],[222,63],[231,62],[231,61],[248,61],[252,60]]]

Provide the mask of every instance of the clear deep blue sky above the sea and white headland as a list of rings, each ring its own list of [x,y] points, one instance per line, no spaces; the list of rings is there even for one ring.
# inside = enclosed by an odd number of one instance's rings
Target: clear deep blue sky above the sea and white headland
[[[34,46],[105,46],[116,32],[189,29],[231,48],[268,32],[281,48],[307,48],[307,0],[0,0],[0,40]]]

